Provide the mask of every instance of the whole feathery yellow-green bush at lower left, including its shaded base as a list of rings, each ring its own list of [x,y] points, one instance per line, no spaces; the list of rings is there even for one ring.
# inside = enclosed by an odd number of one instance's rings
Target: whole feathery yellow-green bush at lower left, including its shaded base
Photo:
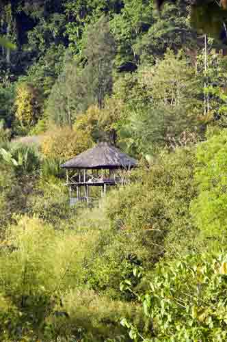
[[[46,319],[62,293],[83,283],[83,259],[92,239],[73,231],[55,231],[26,216],[10,227],[8,239],[1,243],[0,291],[18,309],[17,321],[23,317],[34,336],[46,334]]]

